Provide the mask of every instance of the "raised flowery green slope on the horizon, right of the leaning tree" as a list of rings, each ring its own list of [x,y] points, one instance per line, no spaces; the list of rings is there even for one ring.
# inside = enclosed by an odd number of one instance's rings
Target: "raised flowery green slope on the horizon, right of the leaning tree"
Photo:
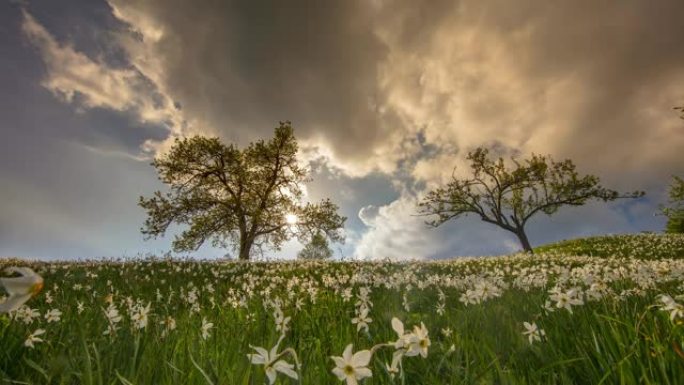
[[[579,238],[536,247],[535,253],[641,259],[684,258],[684,234],[623,234]]]

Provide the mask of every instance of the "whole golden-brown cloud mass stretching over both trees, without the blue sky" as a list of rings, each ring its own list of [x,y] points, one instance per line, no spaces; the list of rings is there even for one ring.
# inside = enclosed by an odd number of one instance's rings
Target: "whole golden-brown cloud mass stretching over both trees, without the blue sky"
[[[568,236],[592,223],[653,229],[669,176],[684,173],[672,111],[684,104],[681,1],[109,0],[107,10],[125,65],[78,52],[24,13],[47,89],[163,125],[166,140],[140,143],[149,151],[191,133],[245,144],[291,120],[303,158],[336,174],[312,196],[331,192],[358,213],[357,257],[509,250],[477,221],[453,236],[412,216],[416,197],[467,172],[477,146],[571,158],[652,197],[636,205],[647,218],[629,205],[562,214]],[[393,193],[361,193],[377,175]]]

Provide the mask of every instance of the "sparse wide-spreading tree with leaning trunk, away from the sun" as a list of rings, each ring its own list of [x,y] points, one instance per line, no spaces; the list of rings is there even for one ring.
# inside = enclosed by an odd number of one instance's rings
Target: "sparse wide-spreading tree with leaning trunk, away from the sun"
[[[621,195],[599,185],[593,175],[580,176],[571,160],[555,162],[535,155],[523,162],[494,159],[477,148],[468,153],[472,177],[456,178],[446,186],[429,191],[419,203],[420,215],[437,216],[427,224],[437,227],[461,216],[474,214],[516,235],[527,252],[532,247],[525,225],[537,213],[554,214],[561,206],[581,206],[592,199],[613,201],[638,198],[643,192]]]

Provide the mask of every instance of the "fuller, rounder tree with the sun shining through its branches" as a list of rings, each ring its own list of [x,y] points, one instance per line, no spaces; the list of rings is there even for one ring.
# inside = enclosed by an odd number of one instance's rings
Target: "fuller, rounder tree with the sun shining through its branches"
[[[244,149],[218,138],[176,139],[168,154],[152,163],[170,192],[140,197],[147,212],[142,233],[156,238],[171,224],[188,225],[176,235],[175,251],[197,250],[211,239],[216,247],[232,245],[241,260],[254,248],[279,250],[293,237],[306,242],[319,231],[343,241],[346,218],[335,204],[303,203],[302,184],[310,179],[297,151],[290,122],[281,122],[269,141]]]

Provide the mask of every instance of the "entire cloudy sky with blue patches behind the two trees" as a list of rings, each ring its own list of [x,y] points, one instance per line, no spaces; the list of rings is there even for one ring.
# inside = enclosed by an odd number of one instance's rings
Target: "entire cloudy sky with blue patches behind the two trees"
[[[533,245],[661,231],[684,175],[683,14],[680,0],[2,2],[0,256],[164,254],[177,229],[140,233],[139,197],[165,188],[151,159],[191,135],[245,146],[283,120],[309,198],[348,217],[338,258],[519,250],[477,218],[415,215],[478,146],[647,193],[536,217]]]

